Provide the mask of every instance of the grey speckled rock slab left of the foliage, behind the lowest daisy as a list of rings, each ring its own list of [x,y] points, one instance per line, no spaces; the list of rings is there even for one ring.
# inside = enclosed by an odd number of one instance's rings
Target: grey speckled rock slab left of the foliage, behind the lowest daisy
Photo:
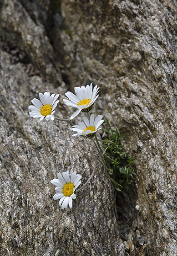
[[[67,123],[30,118],[35,91],[63,93],[0,50],[0,229],[6,255],[124,255],[116,227],[114,189],[100,165],[71,210],[61,210],[51,180],[58,172],[91,175],[95,151]],[[59,104],[57,113],[66,113]],[[70,113],[68,113],[68,117]],[[120,251],[120,252],[119,252]]]

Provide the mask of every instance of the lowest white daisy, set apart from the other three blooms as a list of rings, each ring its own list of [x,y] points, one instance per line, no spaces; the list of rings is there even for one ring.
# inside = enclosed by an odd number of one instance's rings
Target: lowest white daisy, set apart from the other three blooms
[[[56,194],[53,198],[54,200],[60,199],[59,205],[61,209],[67,208],[68,205],[72,208],[72,199],[76,199],[74,191],[81,184],[81,175],[76,173],[77,172],[74,171],[71,174],[71,178],[69,171],[63,172],[63,177],[58,173],[58,179],[51,181],[51,183],[56,186]]]

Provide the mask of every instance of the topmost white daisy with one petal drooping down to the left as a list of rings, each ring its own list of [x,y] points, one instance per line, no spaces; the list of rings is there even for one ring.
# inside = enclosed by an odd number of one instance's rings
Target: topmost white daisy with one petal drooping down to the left
[[[81,111],[82,112],[89,112],[92,108],[93,103],[96,101],[98,94],[99,87],[97,88],[97,85],[92,90],[92,84],[81,87],[75,87],[74,88],[76,95],[74,95],[72,92],[67,91],[65,95],[67,96],[65,101],[66,105],[70,107],[76,107],[78,110],[74,112],[74,114],[70,117],[70,119],[73,119],[76,117]]]

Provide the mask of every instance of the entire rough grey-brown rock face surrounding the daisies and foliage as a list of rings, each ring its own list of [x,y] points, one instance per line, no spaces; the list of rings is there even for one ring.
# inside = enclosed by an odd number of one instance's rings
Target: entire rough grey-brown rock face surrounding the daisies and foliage
[[[0,229],[2,255],[177,256],[177,3],[173,0],[0,1]],[[133,197],[97,166],[71,210],[50,180],[78,171],[92,145],[66,123],[29,117],[39,92],[100,86],[93,112],[125,134],[136,158]],[[67,113],[67,114],[66,114]],[[80,120],[78,117],[77,120]]]

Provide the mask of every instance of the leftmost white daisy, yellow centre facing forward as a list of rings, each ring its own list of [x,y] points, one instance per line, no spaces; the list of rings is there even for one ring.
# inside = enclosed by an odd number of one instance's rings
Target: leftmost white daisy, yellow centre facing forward
[[[44,95],[40,92],[39,97],[40,100],[38,99],[33,99],[31,102],[33,105],[30,105],[29,110],[30,112],[30,117],[40,117],[40,121],[46,117],[46,120],[49,121],[54,120],[54,113],[56,112],[54,109],[56,108],[59,100],[57,101],[58,97],[60,94],[52,94],[50,96],[49,92],[45,92]]]

